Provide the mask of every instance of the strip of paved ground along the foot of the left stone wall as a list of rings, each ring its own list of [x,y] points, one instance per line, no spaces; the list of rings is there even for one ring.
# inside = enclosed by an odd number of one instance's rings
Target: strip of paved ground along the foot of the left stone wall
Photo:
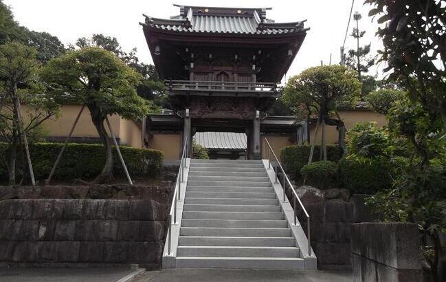
[[[110,282],[130,268],[0,268],[0,282]]]

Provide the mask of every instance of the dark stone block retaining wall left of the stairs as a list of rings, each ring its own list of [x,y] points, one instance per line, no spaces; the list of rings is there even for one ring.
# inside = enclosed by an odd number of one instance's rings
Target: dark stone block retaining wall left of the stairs
[[[4,200],[0,264],[159,268],[166,214],[150,199]]]

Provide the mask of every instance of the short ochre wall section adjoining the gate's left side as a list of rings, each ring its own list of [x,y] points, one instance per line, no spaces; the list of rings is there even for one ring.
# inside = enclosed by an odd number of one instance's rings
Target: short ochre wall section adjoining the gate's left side
[[[150,139],[148,148],[164,152],[164,160],[179,160],[179,148],[181,147],[181,134],[154,133]]]

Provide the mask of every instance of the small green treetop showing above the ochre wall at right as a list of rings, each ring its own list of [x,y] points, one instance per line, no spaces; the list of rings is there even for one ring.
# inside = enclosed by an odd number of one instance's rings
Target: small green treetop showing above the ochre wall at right
[[[383,88],[372,91],[366,96],[366,101],[377,113],[387,115],[395,103],[403,100],[407,94],[403,90]]]

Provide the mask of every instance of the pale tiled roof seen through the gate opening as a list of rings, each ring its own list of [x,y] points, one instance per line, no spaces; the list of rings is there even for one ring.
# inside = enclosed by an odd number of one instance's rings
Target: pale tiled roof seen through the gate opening
[[[197,132],[194,141],[206,149],[246,149],[245,133]]]

